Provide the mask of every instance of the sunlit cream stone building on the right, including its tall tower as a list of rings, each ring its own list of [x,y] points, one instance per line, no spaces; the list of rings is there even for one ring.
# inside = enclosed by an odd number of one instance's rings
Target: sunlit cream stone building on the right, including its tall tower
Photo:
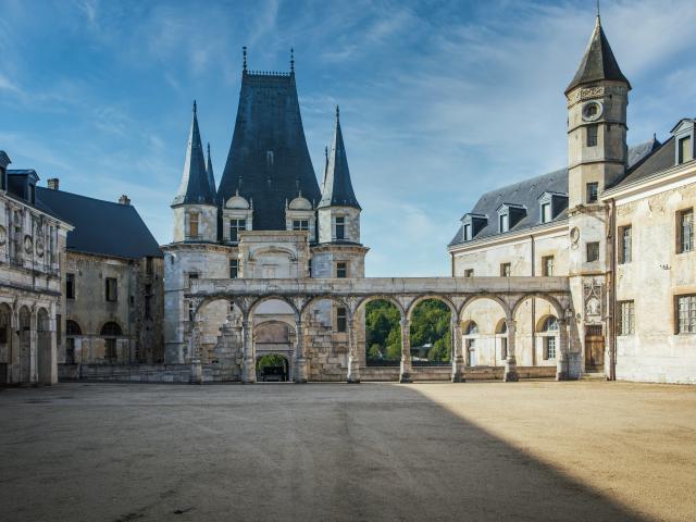
[[[696,383],[695,123],[629,148],[630,90],[597,16],[564,91],[568,167],[483,195],[448,247],[452,276],[568,277],[574,315],[538,298],[517,310],[518,361],[556,364],[568,324],[577,372]],[[504,315],[475,304],[469,363],[498,365]]]

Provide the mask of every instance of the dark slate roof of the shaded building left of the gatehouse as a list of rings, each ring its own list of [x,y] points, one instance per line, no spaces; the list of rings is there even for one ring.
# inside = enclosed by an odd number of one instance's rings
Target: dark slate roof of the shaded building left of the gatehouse
[[[36,187],[37,207],[72,224],[67,249],[101,256],[161,258],[160,247],[135,207]]]

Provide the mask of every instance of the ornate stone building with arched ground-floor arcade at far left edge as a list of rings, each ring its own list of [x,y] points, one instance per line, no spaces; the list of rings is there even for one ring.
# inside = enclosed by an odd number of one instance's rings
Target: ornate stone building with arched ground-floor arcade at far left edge
[[[35,171],[9,164],[0,150],[0,384],[52,384],[71,225],[37,198]]]

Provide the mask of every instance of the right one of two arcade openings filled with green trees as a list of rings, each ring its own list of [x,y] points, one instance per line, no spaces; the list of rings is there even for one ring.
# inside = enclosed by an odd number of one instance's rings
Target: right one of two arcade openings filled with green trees
[[[409,310],[411,364],[449,365],[452,360],[451,308],[440,298],[417,301]]]

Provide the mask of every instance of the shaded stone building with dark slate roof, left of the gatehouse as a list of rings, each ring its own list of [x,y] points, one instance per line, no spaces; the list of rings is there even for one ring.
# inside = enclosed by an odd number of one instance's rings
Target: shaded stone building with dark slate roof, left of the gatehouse
[[[58,361],[61,376],[85,364],[162,362],[162,252],[126,196],[119,202],[66,192],[59,179],[39,201],[73,226],[67,233]]]

